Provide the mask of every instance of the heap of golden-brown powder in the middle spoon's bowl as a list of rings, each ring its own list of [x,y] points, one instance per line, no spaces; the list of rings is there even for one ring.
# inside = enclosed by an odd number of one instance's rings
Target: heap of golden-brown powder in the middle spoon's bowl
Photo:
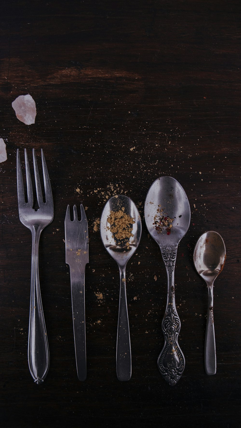
[[[122,207],[119,211],[110,211],[110,215],[107,218],[107,222],[110,224],[110,227],[107,229],[113,235],[113,238],[118,242],[118,244],[125,243],[129,245],[129,239],[133,237],[132,234],[132,225],[135,223],[134,218],[130,217],[125,212],[125,207]]]

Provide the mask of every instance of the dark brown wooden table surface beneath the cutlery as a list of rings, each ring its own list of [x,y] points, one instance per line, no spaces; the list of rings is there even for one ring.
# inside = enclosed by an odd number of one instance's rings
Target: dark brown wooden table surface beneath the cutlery
[[[2,427],[238,427],[241,398],[240,1],[1,2],[0,390]],[[36,123],[12,109],[36,101]],[[27,362],[31,235],[18,217],[16,150],[45,153],[54,220],[39,249],[50,369],[34,384]],[[143,234],[127,266],[132,377],[116,377],[119,271],[94,222],[108,197],[127,192],[140,209],[152,182],[176,178],[191,223],[176,262],[176,386],[161,377],[167,280],[160,250]],[[67,204],[89,222],[86,267],[87,379],[77,380]],[[193,248],[219,232],[227,259],[214,285],[217,374],[204,369],[208,289]],[[140,264],[139,264],[140,262]],[[157,280],[155,280],[155,276]],[[102,293],[103,299],[99,296]]]

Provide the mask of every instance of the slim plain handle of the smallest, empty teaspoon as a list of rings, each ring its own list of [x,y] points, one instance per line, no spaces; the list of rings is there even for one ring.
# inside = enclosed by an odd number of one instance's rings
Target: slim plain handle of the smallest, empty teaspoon
[[[213,283],[208,285],[208,315],[205,335],[204,364],[207,375],[216,373],[216,345],[213,318]]]

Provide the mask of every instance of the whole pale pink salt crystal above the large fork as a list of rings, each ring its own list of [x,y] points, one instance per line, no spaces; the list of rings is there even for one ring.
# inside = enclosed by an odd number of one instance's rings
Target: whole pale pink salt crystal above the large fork
[[[31,95],[20,95],[12,102],[12,108],[15,110],[17,118],[25,125],[35,123],[36,104]]]

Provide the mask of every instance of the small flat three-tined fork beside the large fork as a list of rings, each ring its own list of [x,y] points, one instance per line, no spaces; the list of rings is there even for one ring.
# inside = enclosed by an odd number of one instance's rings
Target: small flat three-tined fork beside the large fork
[[[74,205],[74,220],[70,219],[69,205],[65,215],[65,262],[69,265],[74,326],[74,346],[79,380],[86,379],[85,337],[85,265],[89,263],[88,223],[80,205],[81,220],[78,220]]]

